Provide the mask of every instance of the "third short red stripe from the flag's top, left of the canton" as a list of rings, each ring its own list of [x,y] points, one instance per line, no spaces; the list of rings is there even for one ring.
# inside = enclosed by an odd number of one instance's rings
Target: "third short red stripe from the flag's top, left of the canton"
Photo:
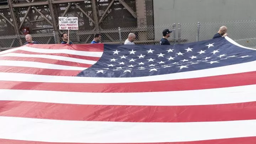
[[[56,60],[48,58],[31,58],[31,57],[0,57],[0,60],[17,60],[17,61],[26,61],[26,62],[39,62],[47,64],[57,64],[57,65],[66,65],[66,66],[78,66],[83,68],[90,68],[91,64],[76,63],[65,60]],[[29,66],[29,65],[28,65]],[[16,71],[14,71],[16,72]]]

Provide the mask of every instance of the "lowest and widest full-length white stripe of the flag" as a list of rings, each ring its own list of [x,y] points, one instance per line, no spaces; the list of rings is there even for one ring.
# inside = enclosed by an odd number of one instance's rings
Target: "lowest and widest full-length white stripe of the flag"
[[[0,117],[0,138],[67,143],[186,142],[256,136],[256,120],[143,123]]]

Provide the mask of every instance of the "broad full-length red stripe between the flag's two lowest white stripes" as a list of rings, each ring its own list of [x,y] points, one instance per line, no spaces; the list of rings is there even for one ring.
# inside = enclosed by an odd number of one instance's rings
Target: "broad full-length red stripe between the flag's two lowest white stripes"
[[[74,105],[0,101],[0,116],[111,122],[214,122],[256,119],[256,102],[198,106]]]

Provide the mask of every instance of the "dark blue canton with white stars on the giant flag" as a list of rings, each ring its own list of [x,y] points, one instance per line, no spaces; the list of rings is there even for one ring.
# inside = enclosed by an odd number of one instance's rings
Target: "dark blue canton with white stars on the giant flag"
[[[229,40],[227,40],[229,39]],[[256,60],[256,51],[217,38],[174,46],[104,44],[100,60],[78,76],[140,77],[209,69]]]

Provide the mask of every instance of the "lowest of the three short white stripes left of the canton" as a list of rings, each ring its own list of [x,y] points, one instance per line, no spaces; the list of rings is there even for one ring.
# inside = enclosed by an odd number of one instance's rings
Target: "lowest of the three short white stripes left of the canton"
[[[87,69],[87,68],[76,67],[76,66],[66,66],[66,65],[57,65],[57,64],[39,63],[39,62],[16,61],[16,60],[0,60],[0,65],[2,65],[2,66],[22,66],[22,67],[42,68],[42,69],[59,69],[59,70],[85,70],[85,69]],[[10,74],[11,73],[9,73],[9,76],[11,76]]]

